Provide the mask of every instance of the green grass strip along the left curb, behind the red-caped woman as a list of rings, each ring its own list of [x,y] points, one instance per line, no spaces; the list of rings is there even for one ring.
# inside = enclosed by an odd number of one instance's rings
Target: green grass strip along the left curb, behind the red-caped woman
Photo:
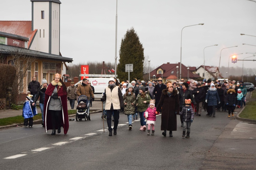
[[[68,114],[69,115],[76,114],[76,110],[69,110]],[[38,119],[42,119],[41,113],[39,113],[33,117],[33,120],[38,120]],[[24,118],[22,117],[22,115],[15,116],[15,117],[2,118],[2,119],[0,119],[0,126],[6,126],[6,125],[10,125],[10,124],[23,123],[23,122],[24,122]]]

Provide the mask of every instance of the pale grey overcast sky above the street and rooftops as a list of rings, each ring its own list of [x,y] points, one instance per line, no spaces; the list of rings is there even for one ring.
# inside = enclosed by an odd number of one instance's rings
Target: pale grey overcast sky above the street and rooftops
[[[60,0],[60,52],[73,63],[114,63],[116,0]],[[164,63],[185,66],[228,66],[228,57],[238,59],[256,53],[256,0],[118,0],[117,56],[121,39],[131,27],[154,68]],[[30,0],[1,1],[0,20],[31,20]],[[208,47],[218,44],[218,46]],[[250,44],[250,45],[242,45]],[[251,46],[255,45],[255,46]],[[204,50],[205,48],[205,50]],[[119,60],[119,56],[117,58]],[[247,58],[250,59],[250,58]],[[251,59],[256,59],[251,57]],[[118,62],[117,60],[117,62]],[[244,62],[255,68],[255,62]],[[242,61],[231,66],[242,67]]]

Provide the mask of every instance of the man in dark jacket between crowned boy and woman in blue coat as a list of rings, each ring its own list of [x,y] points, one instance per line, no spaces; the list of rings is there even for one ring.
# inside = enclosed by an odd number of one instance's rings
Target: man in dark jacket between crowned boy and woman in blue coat
[[[201,83],[197,84],[197,87],[192,91],[193,95],[195,96],[196,100],[196,115],[201,116],[202,108],[203,108],[203,101],[205,97],[205,91],[201,87]]]

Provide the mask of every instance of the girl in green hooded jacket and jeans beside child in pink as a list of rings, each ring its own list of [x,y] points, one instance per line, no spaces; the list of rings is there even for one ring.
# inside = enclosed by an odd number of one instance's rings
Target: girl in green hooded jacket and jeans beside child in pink
[[[144,112],[148,108],[148,103],[150,102],[151,98],[150,95],[145,93],[146,88],[144,86],[141,86],[139,88],[139,94],[137,96],[137,101],[136,101],[136,106],[137,106],[137,111],[140,115],[140,131],[145,131],[146,128],[146,122],[145,122],[145,117],[144,117]]]

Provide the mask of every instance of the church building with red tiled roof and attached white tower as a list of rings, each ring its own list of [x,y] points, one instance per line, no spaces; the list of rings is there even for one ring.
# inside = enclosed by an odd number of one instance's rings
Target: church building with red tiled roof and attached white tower
[[[23,81],[20,94],[28,94],[28,83],[35,76],[48,83],[54,79],[54,74],[66,75],[66,63],[72,58],[63,57],[60,53],[60,4],[59,0],[30,0],[32,3],[31,21],[0,21],[0,55],[3,64],[13,64],[14,54],[35,58],[22,61],[23,67],[29,64],[27,76]],[[10,1],[11,3],[11,1]],[[2,16],[4,18],[4,16]],[[65,77],[66,78],[66,77]],[[65,80],[63,80],[65,81]]]

